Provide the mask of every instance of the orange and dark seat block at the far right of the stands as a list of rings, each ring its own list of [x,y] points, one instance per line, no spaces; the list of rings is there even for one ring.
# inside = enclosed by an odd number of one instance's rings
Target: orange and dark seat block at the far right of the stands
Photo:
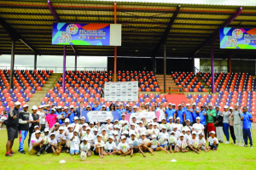
[[[198,73],[209,88],[212,87],[212,74],[209,72]],[[217,92],[220,91],[255,91],[256,78],[248,73],[214,73],[214,85]]]

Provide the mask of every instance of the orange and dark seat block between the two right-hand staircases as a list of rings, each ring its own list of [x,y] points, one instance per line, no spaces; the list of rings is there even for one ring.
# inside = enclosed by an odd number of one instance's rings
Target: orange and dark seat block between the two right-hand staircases
[[[195,77],[193,72],[174,72],[172,78],[177,87],[184,88],[185,92],[207,92],[207,89]]]

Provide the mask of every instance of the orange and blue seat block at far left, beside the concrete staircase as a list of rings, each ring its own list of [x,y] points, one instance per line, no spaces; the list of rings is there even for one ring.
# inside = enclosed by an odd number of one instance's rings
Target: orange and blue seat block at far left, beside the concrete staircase
[[[51,73],[53,71],[15,70],[14,88],[9,88],[10,71],[0,70],[0,111],[9,111],[16,101],[25,105],[32,94],[44,87]]]

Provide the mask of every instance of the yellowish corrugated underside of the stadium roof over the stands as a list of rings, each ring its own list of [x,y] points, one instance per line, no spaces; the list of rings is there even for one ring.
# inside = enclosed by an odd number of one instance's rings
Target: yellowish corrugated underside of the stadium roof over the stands
[[[114,2],[52,0],[51,7],[61,22],[114,23]],[[122,46],[118,56],[163,56],[161,41],[166,39],[166,56],[176,58],[210,58],[208,44],[214,32],[236,15],[240,6],[177,3],[117,3],[117,23],[122,24]],[[178,7],[180,5],[180,7]],[[51,45],[55,16],[47,0],[0,2],[0,54],[62,55],[63,46]],[[168,27],[169,26],[169,27]],[[230,27],[256,27],[255,6],[242,6],[241,14]],[[168,30],[169,28],[169,30]],[[165,34],[165,31],[167,31]],[[165,36],[166,35],[166,36]],[[113,56],[113,47],[67,46],[67,55]],[[234,55],[235,54],[235,55]],[[215,59],[255,59],[254,50],[220,49],[214,45]]]

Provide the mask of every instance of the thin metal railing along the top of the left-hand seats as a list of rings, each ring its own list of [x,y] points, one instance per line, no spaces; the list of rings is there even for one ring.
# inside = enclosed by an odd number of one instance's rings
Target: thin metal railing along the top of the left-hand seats
[[[10,66],[0,66],[0,69],[9,70]],[[15,66],[15,70],[33,70],[33,66]],[[38,66],[37,70],[53,70],[55,73],[63,72],[63,67]],[[66,67],[66,71],[74,71],[74,67]],[[77,71],[108,71],[107,67],[77,67]]]

